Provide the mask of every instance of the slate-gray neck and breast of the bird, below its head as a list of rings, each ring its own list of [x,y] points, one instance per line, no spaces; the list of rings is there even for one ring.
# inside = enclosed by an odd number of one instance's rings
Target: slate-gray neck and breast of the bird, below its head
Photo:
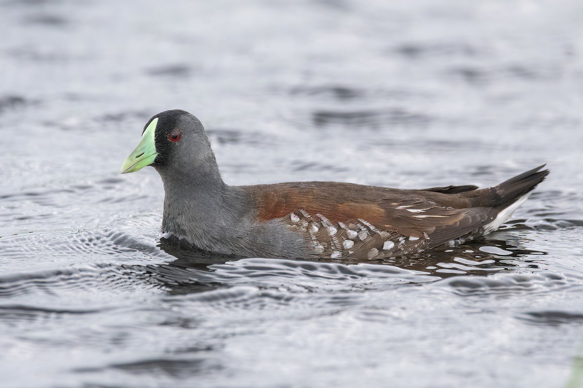
[[[164,233],[185,237],[203,250],[226,254],[245,243],[250,200],[243,190],[223,182],[214,157],[189,169],[156,169],[164,183]]]

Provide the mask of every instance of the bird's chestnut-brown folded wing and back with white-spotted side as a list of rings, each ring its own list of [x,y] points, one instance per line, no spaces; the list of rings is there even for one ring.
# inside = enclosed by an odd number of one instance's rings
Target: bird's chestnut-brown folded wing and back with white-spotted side
[[[255,199],[259,222],[281,218],[332,257],[370,258],[436,247],[479,229],[492,216],[489,208],[469,208],[469,201],[449,188],[398,190],[331,182],[244,188]],[[368,236],[354,238],[353,232]]]

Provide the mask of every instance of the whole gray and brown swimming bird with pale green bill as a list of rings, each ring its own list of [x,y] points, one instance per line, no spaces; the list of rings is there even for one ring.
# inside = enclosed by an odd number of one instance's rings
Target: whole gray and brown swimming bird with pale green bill
[[[498,229],[549,174],[543,165],[481,190],[318,181],[229,186],[202,123],[181,110],[146,123],[120,172],[145,166],[164,184],[164,236],[264,258],[380,259],[453,246]]]

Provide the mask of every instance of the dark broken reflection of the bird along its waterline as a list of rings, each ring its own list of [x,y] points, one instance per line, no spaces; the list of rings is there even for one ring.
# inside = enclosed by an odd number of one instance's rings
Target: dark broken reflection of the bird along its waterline
[[[504,234],[502,237],[508,236]],[[189,294],[228,287],[229,279],[223,279],[216,269],[227,262],[243,259],[234,255],[217,255],[197,250],[177,239],[160,239],[158,247],[176,259],[162,265],[147,266],[146,271],[150,280],[161,283],[170,294]],[[419,275],[430,275],[439,280],[460,275],[487,276],[508,270],[537,270],[540,266],[540,256],[545,254],[541,251],[528,250],[519,241],[489,237],[456,247],[437,248],[412,257],[395,257],[382,261],[317,259],[309,262],[314,271],[318,271],[318,263],[357,265],[366,262],[378,264],[379,270],[391,265],[417,271]],[[269,260],[273,259],[265,259]],[[368,266],[368,269],[370,268],[371,266]],[[255,270],[261,270],[261,267]],[[252,283],[252,279],[250,282]]]

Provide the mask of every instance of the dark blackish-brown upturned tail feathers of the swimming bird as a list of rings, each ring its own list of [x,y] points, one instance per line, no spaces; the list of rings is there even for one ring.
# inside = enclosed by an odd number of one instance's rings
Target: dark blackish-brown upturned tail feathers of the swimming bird
[[[546,165],[524,172],[491,188],[494,196],[491,206],[498,207],[511,204],[526,193],[534,190],[536,185],[545,180],[549,170],[542,170]]]

